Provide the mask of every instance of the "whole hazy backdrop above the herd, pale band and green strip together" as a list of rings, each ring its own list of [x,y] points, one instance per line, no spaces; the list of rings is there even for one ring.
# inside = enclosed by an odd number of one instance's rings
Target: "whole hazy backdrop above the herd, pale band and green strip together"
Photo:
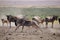
[[[60,0],[0,0],[0,16],[2,15],[39,15],[60,16]]]

